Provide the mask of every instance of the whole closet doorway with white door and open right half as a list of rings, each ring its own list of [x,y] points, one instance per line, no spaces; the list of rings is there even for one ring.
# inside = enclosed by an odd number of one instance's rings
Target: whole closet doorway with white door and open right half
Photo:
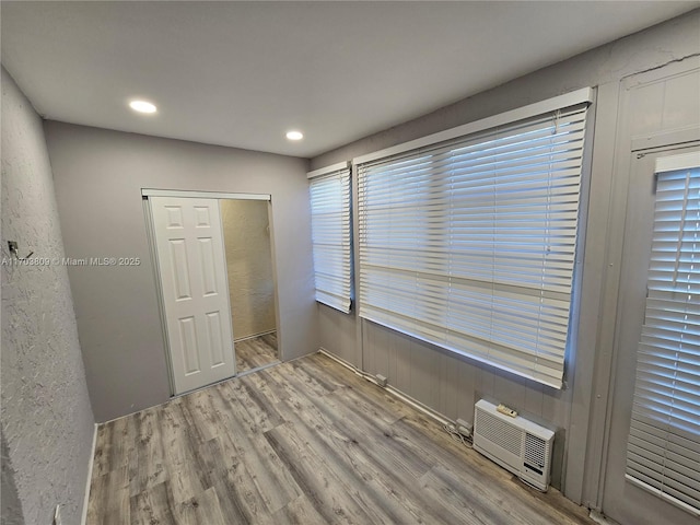
[[[173,395],[279,362],[270,196],[142,195]]]

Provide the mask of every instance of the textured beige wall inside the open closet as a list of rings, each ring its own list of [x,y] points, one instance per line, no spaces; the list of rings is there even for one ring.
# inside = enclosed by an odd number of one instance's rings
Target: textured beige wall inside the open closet
[[[221,201],[234,339],[276,326],[268,206],[262,200]]]

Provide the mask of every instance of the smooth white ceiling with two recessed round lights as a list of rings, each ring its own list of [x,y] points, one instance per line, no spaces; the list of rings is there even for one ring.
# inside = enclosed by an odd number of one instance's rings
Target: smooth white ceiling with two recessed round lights
[[[314,156],[698,4],[2,1],[2,63],[46,118]]]

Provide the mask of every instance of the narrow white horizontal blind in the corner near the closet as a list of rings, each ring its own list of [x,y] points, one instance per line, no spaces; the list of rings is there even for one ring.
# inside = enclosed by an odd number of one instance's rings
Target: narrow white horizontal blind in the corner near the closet
[[[350,312],[350,170],[310,182],[316,301]]]

